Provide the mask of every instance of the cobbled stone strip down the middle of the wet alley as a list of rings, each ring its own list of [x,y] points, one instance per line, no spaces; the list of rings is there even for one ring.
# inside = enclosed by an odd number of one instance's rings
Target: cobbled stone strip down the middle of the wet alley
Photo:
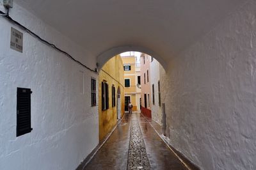
[[[132,115],[133,116],[133,115]],[[150,162],[138,120],[131,121],[127,170],[150,170]]]

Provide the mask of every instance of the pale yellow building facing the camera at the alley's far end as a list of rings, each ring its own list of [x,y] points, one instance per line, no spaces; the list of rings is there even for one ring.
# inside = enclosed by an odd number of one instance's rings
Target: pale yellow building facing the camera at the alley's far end
[[[125,83],[125,111],[128,111],[128,104],[131,102],[132,111],[140,111],[140,95],[141,91],[138,88],[140,84],[140,71],[136,65],[135,56],[122,57],[124,63],[124,83]]]

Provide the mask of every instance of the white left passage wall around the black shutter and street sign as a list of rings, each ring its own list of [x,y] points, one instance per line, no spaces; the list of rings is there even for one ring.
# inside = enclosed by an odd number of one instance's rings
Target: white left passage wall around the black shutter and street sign
[[[3,11],[3,6],[0,4]],[[95,59],[17,4],[11,17],[95,67]],[[10,29],[24,33],[23,53],[10,49]],[[0,16],[0,169],[76,169],[99,141],[90,78],[67,56]],[[16,137],[17,87],[31,88],[33,131]]]

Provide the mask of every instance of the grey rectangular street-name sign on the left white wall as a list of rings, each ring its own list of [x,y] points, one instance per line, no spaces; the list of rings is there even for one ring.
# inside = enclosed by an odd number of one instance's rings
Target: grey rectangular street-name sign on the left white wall
[[[22,52],[23,50],[23,33],[17,29],[11,28],[11,49]]]

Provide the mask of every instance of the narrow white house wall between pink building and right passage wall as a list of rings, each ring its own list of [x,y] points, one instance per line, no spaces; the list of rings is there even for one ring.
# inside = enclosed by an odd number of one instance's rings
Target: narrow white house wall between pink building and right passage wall
[[[155,91],[155,104],[153,104],[153,92],[151,92],[151,116],[154,121],[157,123],[161,124],[161,118],[162,118],[162,112],[161,112],[161,107],[159,106],[159,99],[158,99],[158,81],[160,81],[160,64],[159,62],[154,59],[150,63],[150,83],[151,83],[151,90],[152,90],[152,84],[154,84],[154,91]],[[161,66],[162,67],[162,66]],[[161,82],[160,82],[161,83]]]

